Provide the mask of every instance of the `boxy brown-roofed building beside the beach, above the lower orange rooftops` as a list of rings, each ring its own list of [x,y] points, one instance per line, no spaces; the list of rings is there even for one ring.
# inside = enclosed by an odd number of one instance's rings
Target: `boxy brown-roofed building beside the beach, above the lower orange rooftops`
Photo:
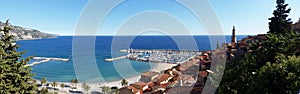
[[[152,81],[154,78],[156,78],[158,76],[158,72],[154,72],[154,71],[148,71],[145,72],[141,75],[141,81],[142,82],[150,82]]]

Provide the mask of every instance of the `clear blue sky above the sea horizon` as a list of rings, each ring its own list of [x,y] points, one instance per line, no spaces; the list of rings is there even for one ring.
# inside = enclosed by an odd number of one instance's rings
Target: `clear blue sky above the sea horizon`
[[[238,35],[255,35],[268,31],[268,18],[272,17],[275,0],[208,0],[218,18],[223,34],[230,35],[232,26]],[[59,35],[74,35],[89,0],[2,0],[0,21],[42,32]],[[300,18],[300,0],[286,0],[293,22]],[[102,6],[94,4],[92,12],[101,12]],[[199,4],[201,7],[201,4]],[[86,19],[86,18],[85,18]],[[199,20],[200,19],[200,20]],[[94,20],[90,18],[89,20]],[[97,19],[95,19],[97,20]],[[125,34],[140,30],[139,34],[170,34],[187,30],[192,35],[207,35],[201,18],[188,8],[171,0],[127,0],[114,7],[99,26],[98,35]],[[151,23],[152,25],[149,25]],[[88,27],[90,23],[84,23]],[[145,25],[144,25],[145,24]],[[182,25],[182,26],[180,26]],[[87,30],[88,31],[88,30]],[[130,33],[128,33],[130,32]],[[184,33],[185,34],[185,33]],[[172,34],[171,34],[172,35]],[[187,34],[188,35],[188,34]]]

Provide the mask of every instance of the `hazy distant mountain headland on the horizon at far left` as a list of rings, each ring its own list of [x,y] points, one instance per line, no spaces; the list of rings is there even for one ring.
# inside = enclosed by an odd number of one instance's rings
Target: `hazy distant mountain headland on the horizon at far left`
[[[0,28],[3,28],[5,23],[0,21]],[[43,38],[54,38],[57,35],[47,34],[39,30],[24,28],[20,26],[9,25],[11,27],[10,34],[15,36],[16,40],[32,40]]]

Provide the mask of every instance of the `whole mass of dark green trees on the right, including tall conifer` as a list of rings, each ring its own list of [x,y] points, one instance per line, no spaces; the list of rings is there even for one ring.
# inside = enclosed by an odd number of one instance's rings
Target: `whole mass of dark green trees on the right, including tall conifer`
[[[291,30],[290,9],[277,0],[265,41],[253,41],[242,59],[226,63],[217,90],[229,94],[295,94],[300,90],[300,34]]]

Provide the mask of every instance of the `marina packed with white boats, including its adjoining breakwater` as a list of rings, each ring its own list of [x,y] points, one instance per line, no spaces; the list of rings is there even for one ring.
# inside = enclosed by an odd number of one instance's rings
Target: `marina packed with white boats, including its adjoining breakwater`
[[[153,63],[172,63],[180,64],[189,59],[201,55],[201,51],[193,50],[143,50],[143,49],[127,49],[120,50],[127,53],[126,56],[105,59],[107,62],[128,58],[130,60],[153,62]]]

